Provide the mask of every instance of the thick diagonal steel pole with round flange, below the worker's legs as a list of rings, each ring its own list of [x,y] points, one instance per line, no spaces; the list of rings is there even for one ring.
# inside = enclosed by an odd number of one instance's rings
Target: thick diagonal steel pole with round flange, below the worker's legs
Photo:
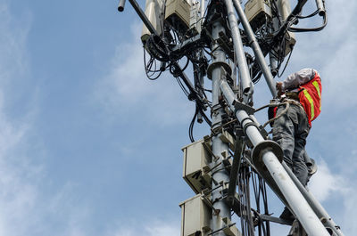
[[[227,81],[223,79],[220,80],[220,90],[226,98],[230,109],[236,110],[235,102],[237,102],[237,100]],[[253,147],[264,142],[262,134],[245,110],[237,110],[235,114],[241,126],[245,127],[245,135],[252,142]],[[283,193],[297,219],[303,224],[303,229],[310,236],[329,236],[324,225],[313,212],[306,199],[303,198],[303,194],[298,190],[289,175],[287,175],[286,170],[278,161],[277,156],[270,151],[269,148],[263,150],[262,153],[264,165],[268,168],[270,175],[275,183],[277,183],[279,190]]]

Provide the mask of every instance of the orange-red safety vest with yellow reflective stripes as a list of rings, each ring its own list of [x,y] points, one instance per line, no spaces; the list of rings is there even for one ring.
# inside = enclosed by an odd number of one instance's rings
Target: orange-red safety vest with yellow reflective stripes
[[[311,121],[319,117],[321,112],[321,79],[317,71],[315,77],[309,82],[300,86],[299,100],[305,110],[307,117],[309,118],[309,124]]]

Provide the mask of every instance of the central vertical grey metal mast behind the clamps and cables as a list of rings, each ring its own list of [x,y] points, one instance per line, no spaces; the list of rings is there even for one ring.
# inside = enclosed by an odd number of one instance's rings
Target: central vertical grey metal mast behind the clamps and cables
[[[212,37],[213,39],[218,39],[219,33],[223,31],[219,21],[216,21],[212,25]],[[213,61],[212,66],[212,129],[221,125],[221,116],[224,114],[224,110],[220,107],[219,97],[220,97],[220,77],[222,76],[222,69],[219,63],[225,62],[226,53],[220,48],[220,45],[213,43],[212,45],[213,52]],[[214,65],[215,64],[215,65]],[[220,140],[221,134],[214,134],[212,136],[212,152],[216,157],[220,159],[215,160],[215,165],[218,165],[221,162],[223,151],[228,151],[228,144]],[[212,182],[212,188],[215,188],[216,183],[228,183],[229,175],[227,170],[224,168],[223,164],[220,163],[220,167],[217,167],[217,171],[212,174],[214,182]],[[218,231],[222,228],[221,218],[228,217],[230,219],[230,208],[228,208],[226,202],[222,200],[222,188],[218,188],[215,191],[212,191],[212,202],[215,209],[219,209],[219,214],[213,211],[212,216],[212,232]],[[226,235],[223,231],[213,233],[213,236],[223,236]]]

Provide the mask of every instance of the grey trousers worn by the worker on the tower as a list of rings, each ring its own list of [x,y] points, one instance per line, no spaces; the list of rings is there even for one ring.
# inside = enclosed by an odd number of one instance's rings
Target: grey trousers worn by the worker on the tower
[[[285,106],[279,106],[277,116]],[[305,151],[306,137],[310,126],[307,115],[302,107],[290,104],[289,109],[274,121],[273,140],[278,142],[284,152],[284,161],[296,177],[306,186],[308,182],[307,153]]]

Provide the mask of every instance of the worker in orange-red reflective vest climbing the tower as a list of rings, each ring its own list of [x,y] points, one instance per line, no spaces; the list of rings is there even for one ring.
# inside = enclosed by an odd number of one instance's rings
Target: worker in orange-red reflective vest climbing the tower
[[[278,96],[289,102],[286,113],[277,118],[273,125],[273,140],[278,142],[284,152],[284,161],[299,181],[306,186],[309,180],[311,159],[305,151],[306,137],[311,128],[311,121],[321,111],[321,80],[315,69],[301,69],[277,83]],[[278,106],[276,115],[285,110]],[[294,219],[286,208],[281,218]],[[292,218],[293,217],[293,218]]]

